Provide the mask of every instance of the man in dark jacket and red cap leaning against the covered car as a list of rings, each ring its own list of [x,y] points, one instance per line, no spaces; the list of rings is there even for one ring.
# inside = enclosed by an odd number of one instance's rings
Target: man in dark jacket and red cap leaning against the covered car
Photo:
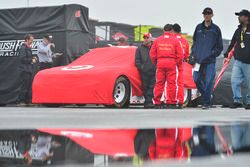
[[[145,33],[143,38],[143,44],[136,50],[135,65],[141,74],[143,94],[145,98],[144,108],[153,108],[154,105],[152,98],[154,97],[155,66],[149,56],[149,51],[152,45],[152,35],[150,33]]]

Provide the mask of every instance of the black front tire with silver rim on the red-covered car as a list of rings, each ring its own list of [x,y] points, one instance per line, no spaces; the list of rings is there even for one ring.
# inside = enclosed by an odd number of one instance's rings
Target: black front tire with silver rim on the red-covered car
[[[119,85],[123,85],[122,87],[125,89],[124,94],[120,94],[119,92]],[[123,90],[123,89],[122,89]],[[130,82],[127,78],[121,76],[119,77],[114,85],[113,89],[113,98],[115,100],[115,103],[113,105],[105,105],[107,108],[127,108],[130,104]],[[116,96],[116,97],[115,97]]]

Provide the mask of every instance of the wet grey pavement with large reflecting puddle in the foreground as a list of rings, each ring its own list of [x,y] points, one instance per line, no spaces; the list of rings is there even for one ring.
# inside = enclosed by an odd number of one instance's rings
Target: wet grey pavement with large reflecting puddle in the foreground
[[[250,112],[0,107],[0,165],[248,166]]]

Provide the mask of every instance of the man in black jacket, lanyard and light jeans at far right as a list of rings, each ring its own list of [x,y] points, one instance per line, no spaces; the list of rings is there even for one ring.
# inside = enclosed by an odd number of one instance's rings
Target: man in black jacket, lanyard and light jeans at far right
[[[248,10],[242,10],[235,13],[239,16],[240,25],[235,31],[232,41],[225,53],[225,60],[228,53],[235,46],[231,85],[233,90],[234,103],[231,108],[242,107],[242,95],[241,84],[246,81],[247,84],[247,97],[246,97],[246,109],[250,109],[250,12]]]

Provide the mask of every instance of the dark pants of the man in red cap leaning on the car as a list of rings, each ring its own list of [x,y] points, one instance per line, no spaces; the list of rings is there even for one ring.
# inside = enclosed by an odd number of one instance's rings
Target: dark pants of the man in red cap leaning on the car
[[[154,97],[155,72],[141,72],[141,80],[145,98],[144,104],[152,103]]]

